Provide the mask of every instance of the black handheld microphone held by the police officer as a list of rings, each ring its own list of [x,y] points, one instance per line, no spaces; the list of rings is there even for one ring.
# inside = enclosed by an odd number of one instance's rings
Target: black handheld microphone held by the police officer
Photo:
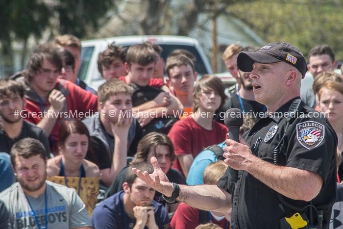
[[[230,108],[225,112],[225,126],[229,128],[229,139],[239,142],[240,127],[243,125],[243,113],[238,108]],[[238,171],[229,167],[230,181],[236,183]]]

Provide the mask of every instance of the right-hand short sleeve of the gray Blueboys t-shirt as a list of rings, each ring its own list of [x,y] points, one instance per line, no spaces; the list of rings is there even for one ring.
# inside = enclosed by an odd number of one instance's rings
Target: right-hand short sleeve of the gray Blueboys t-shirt
[[[82,202],[81,198],[76,194],[75,190],[71,190],[72,203],[70,204],[70,228],[81,228],[92,226],[91,220],[88,217],[86,205]]]

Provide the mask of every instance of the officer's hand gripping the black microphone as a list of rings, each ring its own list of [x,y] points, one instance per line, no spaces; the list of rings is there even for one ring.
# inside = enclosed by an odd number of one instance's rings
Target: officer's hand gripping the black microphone
[[[226,139],[225,144],[223,156],[226,159],[224,162],[233,169],[246,170],[254,157],[246,141],[241,139],[240,142],[236,142],[232,139]]]

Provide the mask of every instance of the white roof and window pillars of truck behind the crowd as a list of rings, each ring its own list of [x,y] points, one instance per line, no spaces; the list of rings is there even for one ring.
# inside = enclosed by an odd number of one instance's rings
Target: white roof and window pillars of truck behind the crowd
[[[213,74],[211,65],[201,50],[196,39],[183,36],[166,36],[166,35],[151,35],[151,36],[123,36],[111,37],[104,39],[96,39],[82,41],[81,64],[78,71],[78,77],[87,85],[94,89],[104,82],[98,72],[98,54],[107,49],[107,46],[112,42],[122,47],[129,47],[150,41],[162,47],[162,57],[166,60],[168,55],[175,49],[185,49],[192,52],[196,57],[196,71],[199,75]]]

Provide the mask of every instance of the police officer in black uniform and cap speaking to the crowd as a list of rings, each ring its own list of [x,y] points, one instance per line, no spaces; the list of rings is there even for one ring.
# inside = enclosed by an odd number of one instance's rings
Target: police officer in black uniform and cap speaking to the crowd
[[[169,201],[177,198],[223,213],[232,203],[234,229],[302,228],[306,220],[328,228],[336,192],[337,135],[326,118],[299,99],[306,73],[303,54],[289,43],[270,43],[256,52],[240,52],[237,66],[250,72],[255,100],[267,107],[245,140],[225,141],[224,161],[239,170],[237,183],[226,171],[218,186],[179,186],[166,179],[155,158],[153,174],[134,171]]]

